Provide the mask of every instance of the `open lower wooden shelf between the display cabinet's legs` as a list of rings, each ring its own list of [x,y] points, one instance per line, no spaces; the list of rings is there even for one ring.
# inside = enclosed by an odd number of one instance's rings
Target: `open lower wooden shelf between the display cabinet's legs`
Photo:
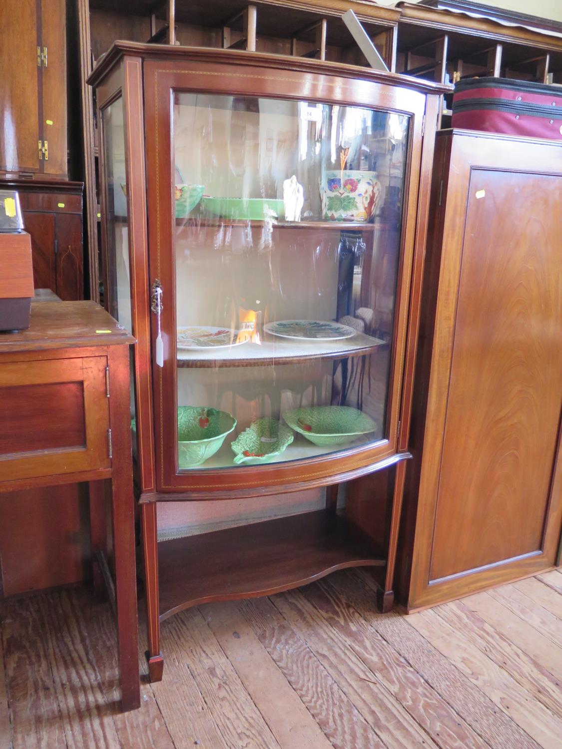
[[[158,544],[160,621],[208,601],[256,598],[344,567],[384,566],[362,531],[324,510]]]

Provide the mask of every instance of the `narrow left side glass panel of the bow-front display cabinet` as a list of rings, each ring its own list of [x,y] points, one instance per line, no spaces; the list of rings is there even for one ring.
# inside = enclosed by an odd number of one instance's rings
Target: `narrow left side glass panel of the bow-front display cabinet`
[[[103,289],[107,309],[124,328],[133,333],[130,268],[129,228],[127,225],[127,179],[125,169],[125,136],[123,100],[116,99],[102,111],[103,176],[105,189],[106,284]],[[130,413],[133,427],[133,453],[137,452],[134,354],[130,351]]]

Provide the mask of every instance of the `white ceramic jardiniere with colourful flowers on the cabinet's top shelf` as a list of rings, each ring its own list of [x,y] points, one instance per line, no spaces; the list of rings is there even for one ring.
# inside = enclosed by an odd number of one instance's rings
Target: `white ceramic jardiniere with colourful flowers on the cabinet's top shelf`
[[[320,183],[322,216],[330,221],[369,221],[381,194],[376,172],[343,169],[325,172]]]

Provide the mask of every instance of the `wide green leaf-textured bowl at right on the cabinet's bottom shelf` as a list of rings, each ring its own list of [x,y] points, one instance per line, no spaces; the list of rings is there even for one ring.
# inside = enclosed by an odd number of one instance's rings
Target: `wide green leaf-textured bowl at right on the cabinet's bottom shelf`
[[[283,419],[318,447],[344,445],[377,428],[370,416],[349,406],[293,408],[283,413]]]

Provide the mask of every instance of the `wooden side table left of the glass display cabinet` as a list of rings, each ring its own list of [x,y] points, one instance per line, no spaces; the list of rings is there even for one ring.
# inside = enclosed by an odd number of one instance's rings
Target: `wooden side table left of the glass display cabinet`
[[[31,305],[31,326],[0,334],[0,491],[90,482],[94,584],[106,583],[118,632],[121,703],[140,704],[129,346],[94,302]],[[104,513],[112,483],[112,568]],[[115,578],[115,581],[114,581]]]

